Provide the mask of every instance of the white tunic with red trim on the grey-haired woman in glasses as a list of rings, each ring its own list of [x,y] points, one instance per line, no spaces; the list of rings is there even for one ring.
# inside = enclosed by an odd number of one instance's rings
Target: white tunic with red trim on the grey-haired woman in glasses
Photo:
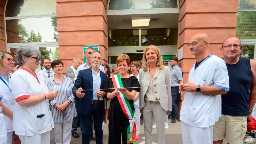
[[[21,68],[12,75],[10,85],[16,101],[13,115],[13,131],[15,131],[15,134],[34,136],[52,130],[54,123],[48,99],[29,106],[21,106],[17,103],[17,101],[30,96],[47,93],[49,90],[44,78],[38,74],[33,75],[27,69]],[[44,114],[44,116],[37,118],[37,115],[41,114]]]

